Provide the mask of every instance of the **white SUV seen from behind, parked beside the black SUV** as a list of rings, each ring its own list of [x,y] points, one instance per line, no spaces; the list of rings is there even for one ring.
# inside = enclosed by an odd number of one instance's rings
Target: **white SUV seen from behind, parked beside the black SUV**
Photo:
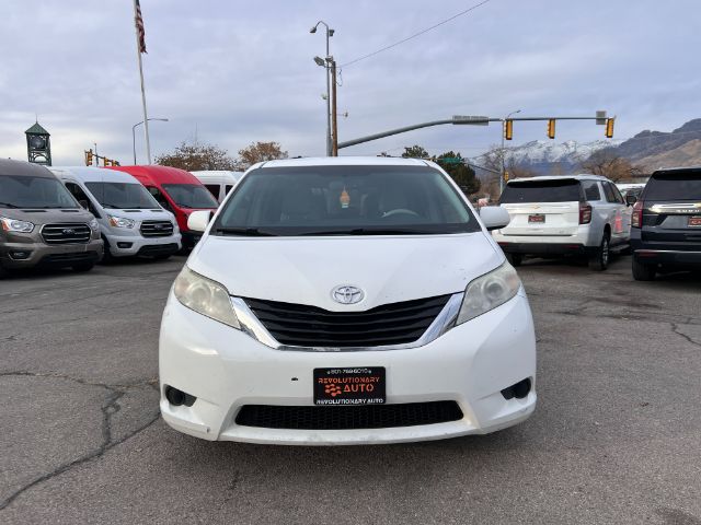
[[[575,254],[606,270],[611,252],[630,248],[631,207],[606,177],[515,178],[499,203],[512,222],[494,238],[514,266],[526,255]]]

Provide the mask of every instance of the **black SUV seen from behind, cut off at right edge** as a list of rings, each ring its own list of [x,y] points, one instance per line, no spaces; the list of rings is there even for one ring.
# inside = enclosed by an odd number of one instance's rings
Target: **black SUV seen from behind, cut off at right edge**
[[[701,167],[658,170],[633,207],[633,277],[660,269],[701,270]]]

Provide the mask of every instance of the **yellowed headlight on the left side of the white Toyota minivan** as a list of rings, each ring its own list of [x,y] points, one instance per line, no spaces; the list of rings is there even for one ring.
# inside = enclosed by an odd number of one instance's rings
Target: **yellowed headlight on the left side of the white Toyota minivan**
[[[183,306],[225,325],[241,328],[227,289],[218,282],[195,273],[186,266],[175,278],[173,293]]]

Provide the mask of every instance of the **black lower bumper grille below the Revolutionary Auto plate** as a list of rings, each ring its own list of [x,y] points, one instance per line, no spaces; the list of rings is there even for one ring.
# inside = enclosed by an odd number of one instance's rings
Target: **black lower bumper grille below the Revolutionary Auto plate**
[[[341,407],[244,405],[235,422],[243,427],[290,430],[391,429],[462,419],[456,401]]]

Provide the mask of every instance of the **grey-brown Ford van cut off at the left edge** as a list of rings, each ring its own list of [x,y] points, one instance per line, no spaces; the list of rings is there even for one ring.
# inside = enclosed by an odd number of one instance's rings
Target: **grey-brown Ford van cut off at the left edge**
[[[36,266],[87,271],[102,249],[97,221],[51,172],[0,160],[0,277]]]

